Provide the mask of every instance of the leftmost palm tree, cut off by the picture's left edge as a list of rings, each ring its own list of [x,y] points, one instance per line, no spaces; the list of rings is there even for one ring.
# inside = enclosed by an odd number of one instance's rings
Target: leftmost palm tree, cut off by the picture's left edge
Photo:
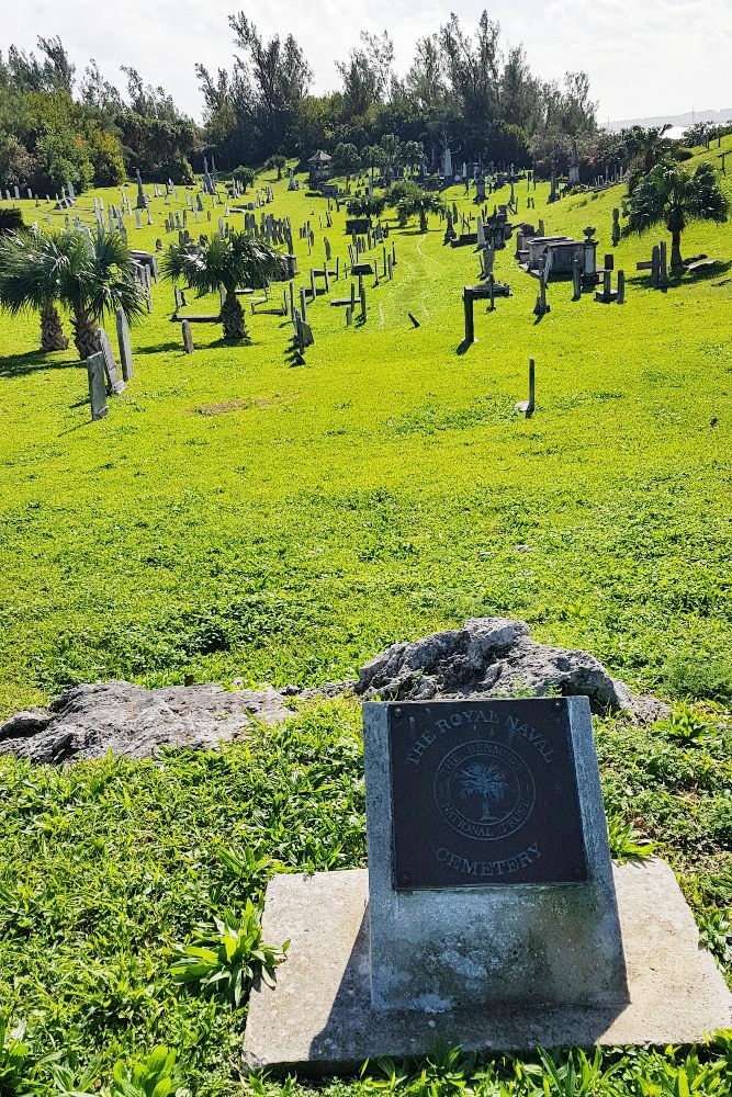
[[[64,260],[58,237],[19,233],[0,237],[0,305],[11,316],[25,309],[41,314],[44,353],[69,344],[56,307]]]

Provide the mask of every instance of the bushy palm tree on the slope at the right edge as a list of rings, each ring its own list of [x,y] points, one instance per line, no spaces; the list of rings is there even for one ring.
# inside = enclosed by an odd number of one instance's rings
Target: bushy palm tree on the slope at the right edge
[[[696,171],[664,160],[639,180],[632,196],[628,230],[642,233],[663,222],[672,236],[671,265],[683,267],[682,233],[691,219],[727,220],[729,202],[711,163],[700,163]]]

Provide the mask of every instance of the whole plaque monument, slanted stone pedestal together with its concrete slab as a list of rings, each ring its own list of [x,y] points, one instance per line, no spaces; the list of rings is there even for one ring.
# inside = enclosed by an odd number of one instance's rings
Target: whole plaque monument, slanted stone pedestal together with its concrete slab
[[[367,703],[369,871],[278,875],[249,1070],[690,1043],[732,1022],[662,861],[610,862],[586,698]]]

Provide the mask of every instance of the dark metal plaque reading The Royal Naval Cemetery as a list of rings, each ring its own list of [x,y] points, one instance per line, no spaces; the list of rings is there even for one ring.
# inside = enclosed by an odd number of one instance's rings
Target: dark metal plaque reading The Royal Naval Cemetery
[[[390,705],[394,886],[587,880],[566,700]]]

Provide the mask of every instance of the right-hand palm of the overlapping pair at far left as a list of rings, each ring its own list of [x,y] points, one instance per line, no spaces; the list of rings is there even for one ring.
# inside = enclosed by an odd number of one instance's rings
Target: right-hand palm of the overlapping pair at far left
[[[59,298],[71,312],[74,343],[83,361],[97,351],[97,328],[106,313],[121,308],[127,319],[144,312],[143,291],[133,275],[129,250],[120,233],[100,229],[91,239],[64,233]]]

